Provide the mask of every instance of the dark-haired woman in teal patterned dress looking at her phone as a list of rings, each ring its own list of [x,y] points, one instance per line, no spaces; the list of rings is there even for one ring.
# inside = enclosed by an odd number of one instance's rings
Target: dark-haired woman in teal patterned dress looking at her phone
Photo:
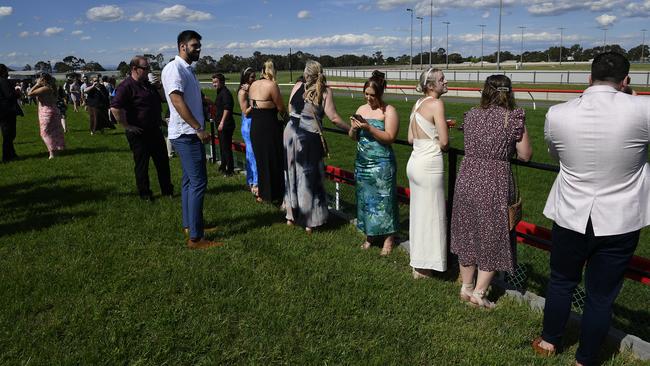
[[[399,213],[395,154],[391,144],[399,131],[395,108],[382,100],[384,73],[373,71],[363,86],[366,104],[351,118],[350,136],[358,140],[354,175],[357,188],[357,227],[366,235],[362,249],[383,238],[381,255],[393,249]]]

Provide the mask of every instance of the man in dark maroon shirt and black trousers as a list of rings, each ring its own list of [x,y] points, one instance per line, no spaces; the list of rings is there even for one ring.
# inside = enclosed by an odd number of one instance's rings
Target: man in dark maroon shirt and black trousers
[[[111,112],[126,130],[133,160],[135,182],[143,200],[151,200],[149,188],[149,158],[153,159],[158,172],[158,183],[163,196],[172,196],[169,173],[169,157],[162,126],[162,101],[165,100],[160,81],[150,83],[149,61],[143,56],[131,60],[131,74],[117,86],[111,101]]]

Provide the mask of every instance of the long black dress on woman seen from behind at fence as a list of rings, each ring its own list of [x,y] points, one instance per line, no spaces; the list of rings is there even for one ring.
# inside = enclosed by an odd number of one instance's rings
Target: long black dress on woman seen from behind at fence
[[[284,198],[283,126],[278,121],[277,108],[258,108],[257,101],[251,101],[251,143],[257,164],[258,194],[264,201],[280,202]]]

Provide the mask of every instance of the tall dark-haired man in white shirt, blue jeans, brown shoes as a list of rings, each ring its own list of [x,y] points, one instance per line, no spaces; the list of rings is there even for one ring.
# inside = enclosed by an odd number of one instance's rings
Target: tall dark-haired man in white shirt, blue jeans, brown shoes
[[[203,235],[203,197],[208,187],[204,143],[210,140],[205,131],[201,86],[190,64],[201,54],[201,35],[192,30],[181,32],[177,38],[178,56],[162,71],[165,97],[169,105],[168,135],[183,167],[181,201],[183,231],[189,236],[190,249],[221,246]]]

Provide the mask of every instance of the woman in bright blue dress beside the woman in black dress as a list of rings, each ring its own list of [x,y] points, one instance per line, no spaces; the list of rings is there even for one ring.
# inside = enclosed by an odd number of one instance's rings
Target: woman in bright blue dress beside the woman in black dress
[[[248,98],[248,87],[253,81],[255,81],[255,70],[247,67],[241,73],[237,99],[239,100],[239,107],[241,109],[241,135],[244,138],[244,144],[246,144],[246,183],[248,183],[251,193],[257,197],[257,163],[255,162],[255,154],[253,153],[253,144],[251,144],[250,113],[252,106]]]

